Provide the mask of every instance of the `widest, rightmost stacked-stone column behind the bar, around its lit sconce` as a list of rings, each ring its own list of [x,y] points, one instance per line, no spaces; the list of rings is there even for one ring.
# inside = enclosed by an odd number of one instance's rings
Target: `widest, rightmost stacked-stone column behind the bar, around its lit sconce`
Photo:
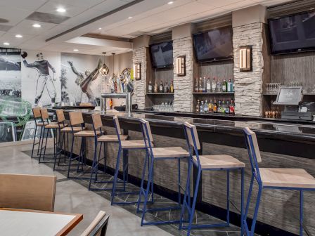
[[[236,114],[262,115],[263,30],[262,22],[233,27]],[[252,72],[240,72],[240,46],[252,46]]]

